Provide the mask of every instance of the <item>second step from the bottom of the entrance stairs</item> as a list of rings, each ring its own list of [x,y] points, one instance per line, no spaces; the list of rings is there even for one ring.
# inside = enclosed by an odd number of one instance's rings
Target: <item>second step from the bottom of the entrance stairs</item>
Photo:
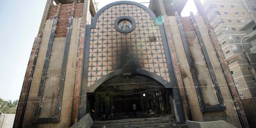
[[[125,125],[125,124],[132,124],[132,125],[136,125],[136,124],[154,124],[154,123],[176,123],[176,122],[173,122],[173,120],[171,120],[171,119],[168,119],[168,120],[156,120],[156,121],[139,121],[139,122],[116,122],[116,123],[105,123],[105,124],[98,124],[98,123],[94,123],[94,125],[93,126],[95,126],[95,127],[98,127],[98,126],[103,126],[103,125],[105,125],[105,126],[109,126],[109,127],[111,127],[111,126],[116,126],[116,125]]]

